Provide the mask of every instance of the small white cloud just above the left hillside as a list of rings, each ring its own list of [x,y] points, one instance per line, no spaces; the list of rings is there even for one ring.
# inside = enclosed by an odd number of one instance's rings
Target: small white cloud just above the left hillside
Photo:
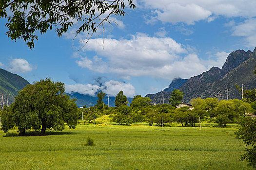
[[[12,59],[11,62],[9,63],[9,68],[8,70],[16,73],[26,73],[29,71],[32,71],[33,67],[31,64],[28,63],[27,60],[22,59],[22,58],[15,58]]]

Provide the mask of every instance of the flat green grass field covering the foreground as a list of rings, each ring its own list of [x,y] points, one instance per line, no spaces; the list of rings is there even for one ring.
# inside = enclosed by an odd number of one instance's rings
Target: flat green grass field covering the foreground
[[[57,135],[2,137],[0,170],[250,170],[236,128],[78,125]],[[92,137],[95,146],[84,146]]]

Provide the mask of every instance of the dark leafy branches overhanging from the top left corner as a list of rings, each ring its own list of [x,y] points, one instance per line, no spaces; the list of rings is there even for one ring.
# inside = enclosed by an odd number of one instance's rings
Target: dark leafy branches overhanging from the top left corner
[[[133,0],[0,0],[0,18],[8,18],[8,37],[32,49],[38,34],[55,29],[60,37],[74,24],[75,37],[81,32],[91,37],[99,26],[113,23],[110,16],[124,16],[126,5],[135,8]]]

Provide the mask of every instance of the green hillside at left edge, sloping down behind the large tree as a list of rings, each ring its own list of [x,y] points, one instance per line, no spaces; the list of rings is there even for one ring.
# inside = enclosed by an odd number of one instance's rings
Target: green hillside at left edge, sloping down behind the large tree
[[[0,68],[0,95],[3,94],[5,103],[6,96],[8,96],[9,102],[14,102],[14,98],[18,92],[28,84],[29,82],[19,75]],[[2,102],[0,102],[0,105],[2,105]]]

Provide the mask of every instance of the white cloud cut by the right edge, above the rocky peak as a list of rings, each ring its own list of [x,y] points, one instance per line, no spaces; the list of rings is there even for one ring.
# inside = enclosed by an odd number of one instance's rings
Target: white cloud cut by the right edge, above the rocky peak
[[[232,28],[234,36],[244,37],[248,46],[256,46],[256,18],[247,19]]]

